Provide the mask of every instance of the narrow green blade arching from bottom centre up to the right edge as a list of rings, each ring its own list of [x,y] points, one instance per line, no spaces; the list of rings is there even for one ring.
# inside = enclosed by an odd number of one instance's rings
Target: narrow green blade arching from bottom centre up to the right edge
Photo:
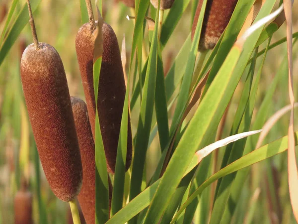
[[[295,138],[297,140],[298,132],[295,132]],[[297,145],[297,141],[296,145]],[[208,178],[196,191],[189,197],[189,199],[184,203],[184,205],[180,208],[177,212],[175,217],[173,218],[171,224],[173,224],[177,218],[180,216],[182,211],[198,196],[200,195],[205,188],[211,185],[213,182],[218,180],[221,177],[227,176],[233,172],[236,172],[240,169],[248,167],[254,163],[263,161],[267,158],[275,156],[279,153],[282,153],[288,149],[288,136],[280,138],[270,144],[264,145],[261,148],[254,150],[253,152],[241,157],[240,159],[236,160],[235,162],[227,165],[210,178]]]

